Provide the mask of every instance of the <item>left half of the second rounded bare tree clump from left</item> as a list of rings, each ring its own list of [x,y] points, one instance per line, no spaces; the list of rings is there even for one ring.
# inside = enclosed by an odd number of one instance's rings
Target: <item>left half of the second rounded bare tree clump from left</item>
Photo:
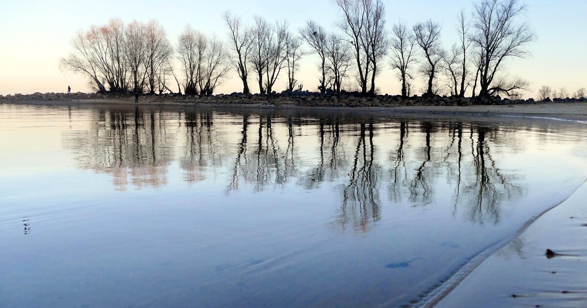
[[[177,59],[180,61],[184,73],[185,94],[198,94],[206,48],[205,36],[194,31],[190,26],[186,26],[177,43]]]

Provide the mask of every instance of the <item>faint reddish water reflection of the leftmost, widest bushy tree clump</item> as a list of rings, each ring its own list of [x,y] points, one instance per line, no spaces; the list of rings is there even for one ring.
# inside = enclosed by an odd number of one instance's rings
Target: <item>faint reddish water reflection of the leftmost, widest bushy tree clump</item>
[[[94,114],[89,130],[70,131],[64,144],[80,167],[112,174],[118,190],[167,184],[174,134],[161,112],[104,111]]]

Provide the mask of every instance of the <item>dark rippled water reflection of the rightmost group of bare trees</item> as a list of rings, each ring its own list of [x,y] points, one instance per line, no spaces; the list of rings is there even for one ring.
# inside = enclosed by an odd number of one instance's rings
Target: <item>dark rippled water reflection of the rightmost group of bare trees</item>
[[[458,208],[467,207],[468,219],[471,221],[498,222],[502,202],[523,195],[525,190],[518,184],[515,175],[498,168],[491,155],[491,144],[505,141],[511,143],[514,138],[500,127],[465,127],[463,123],[445,125],[411,124],[420,128],[424,136],[421,138],[423,140],[414,140],[420,141],[423,146],[417,147],[421,150],[410,157],[404,153],[409,125],[400,121],[397,150],[392,150],[389,155],[387,194],[390,202],[401,202],[402,195],[408,195],[412,205],[429,204],[435,195],[433,188],[440,184],[436,181],[446,178],[447,184],[454,186],[453,214],[456,214]],[[471,142],[469,155],[464,150],[466,130]],[[448,132],[448,138],[439,136],[440,145],[435,145],[431,136],[444,131]],[[491,143],[487,140],[488,134],[492,136]]]

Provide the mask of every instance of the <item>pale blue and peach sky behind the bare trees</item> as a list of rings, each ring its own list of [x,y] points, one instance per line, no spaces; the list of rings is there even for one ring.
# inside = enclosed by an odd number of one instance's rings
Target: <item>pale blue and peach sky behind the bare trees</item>
[[[458,12],[473,8],[473,0],[383,2],[387,29],[400,19],[408,25],[433,19],[443,26],[441,40],[445,48],[458,42]],[[527,0],[524,3],[527,11],[520,21],[528,22],[537,39],[528,46],[531,55],[527,59],[506,63],[509,75],[529,81],[530,91],[524,96],[536,96],[543,85],[554,89],[565,87],[569,93],[587,87],[587,0]],[[297,32],[308,19],[319,22],[328,31],[338,31],[335,23],[341,13],[334,0],[0,0],[0,94],[66,92],[68,85],[73,92],[89,92],[85,77],[59,70],[59,58],[72,52],[70,41],[75,33],[89,29],[90,25],[103,25],[111,18],[120,18],[125,23],[157,19],[175,45],[186,25],[227,39],[222,19],[227,10],[249,24],[255,15],[268,21],[285,19],[292,32]],[[309,46],[305,48],[310,50]],[[382,93],[397,94],[400,83],[396,72],[389,68],[389,60],[384,61],[386,66],[376,86]],[[242,90],[236,72],[231,76],[218,87],[218,93]],[[304,57],[298,77],[304,89],[315,90],[318,76],[318,57]],[[254,90],[256,80],[252,76],[249,79],[249,86]],[[274,89],[285,89],[286,79],[285,74],[281,76]],[[423,87],[424,80],[423,76],[416,76],[418,90]]]

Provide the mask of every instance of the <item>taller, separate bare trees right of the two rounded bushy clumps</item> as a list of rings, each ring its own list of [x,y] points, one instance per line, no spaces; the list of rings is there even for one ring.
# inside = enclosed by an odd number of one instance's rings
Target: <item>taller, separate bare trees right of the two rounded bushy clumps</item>
[[[441,25],[432,20],[416,23],[411,29],[399,22],[388,32],[381,0],[336,0],[336,5],[342,12],[336,23],[338,33],[327,32],[315,21],[307,21],[299,29],[299,38],[319,57],[320,92],[340,92],[343,80],[356,77],[357,90],[375,94],[376,77],[387,64],[386,56],[398,72],[403,96],[411,94],[418,64],[417,72],[426,77],[424,91],[429,95],[441,91],[438,74],[443,72],[448,92],[456,96],[464,96],[471,84],[473,96],[513,96],[528,86],[525,80],[511,79],[504,73],[504,63],[527,56],[525,47],[534,39],[528,26],[517,22],[525,9],[518,0],[481,0],[472,13],[461,11],[458,43],[449,50],[441,44]],[[249,66],[259,82],[259,92],[271,92],[285,59],[303,55],[289,51],[292,49],[288,41],[295,42],[294,50],[299,50],[299,39],[288,32],[286,23],[269,25],[255,17],[255,25],[247,27],[230,13],[226,13],[225,21],[232,43],[232,62],[245,93],[249,92]],[[288,89],[292,90],[295,67],[290,70],[288,66],[288,72]]]

